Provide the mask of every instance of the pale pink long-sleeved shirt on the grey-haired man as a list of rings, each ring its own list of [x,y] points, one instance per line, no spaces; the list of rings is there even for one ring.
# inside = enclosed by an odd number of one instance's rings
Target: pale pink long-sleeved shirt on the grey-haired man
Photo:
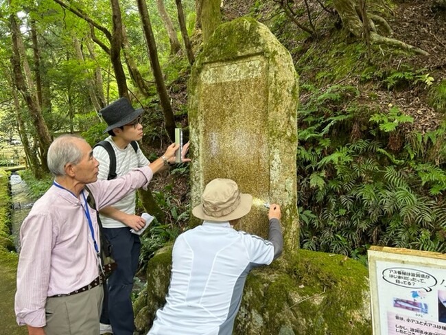
[[[146,188],[152,175],[146,166],[113,181],[88,186],[101,209],[134,189]],[[86,190],[82,192],[88,196]],[[15,297],[19,325],[45,326],[47,297],[82,288],[98,276],[99,264],[85,209],[90,213],[100,250],[96,212],[84,202],[82,194],[76,198],[52,185],[23,221]]]

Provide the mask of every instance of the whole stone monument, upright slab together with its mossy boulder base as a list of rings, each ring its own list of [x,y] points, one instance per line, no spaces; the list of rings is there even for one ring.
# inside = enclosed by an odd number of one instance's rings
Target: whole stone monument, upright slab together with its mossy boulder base
[[[283,255],[248,275],[233,334],[371,335],[367,269],[344,255],[298,249],[298,89],[290,54],[257,21],[224,23],[205,43],[188,89],[191,205],[211,179],[232,178],[255,200],[238,228],[263,237],[263,203],[282,207]],[[165,302],[171,264],[172,245],[150,259],[150,285],[134,303],[138,334],[147,334]]]

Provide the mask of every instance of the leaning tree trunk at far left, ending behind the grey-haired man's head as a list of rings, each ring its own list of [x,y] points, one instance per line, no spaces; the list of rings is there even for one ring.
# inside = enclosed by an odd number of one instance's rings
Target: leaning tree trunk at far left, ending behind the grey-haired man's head
[[[36,95],[30,91],[27,82],[23,78],[22,67],[21,67],[21,53],[19,45],[23,45],[21,42],[21,34],[19,26],[17,25],[14,15],[10,15],[10,29],[11,29],[11,39],[12,39],[12,68],[13,68],[13,78],[17,89],[23,95],[28,109],[30,110],[31,117],[33,119],[34,126],[36,127],[36,133],[38,137],[38,142],[40,145],[40,154],[42,156],[42,168],[45,172],[49,172],[47,165],[47,152],[49,145],[51,144],[51,135],[49,135],[49,130],[45,119],[43,119],[42,111],[36,99]],[[25,60],[25,57],[23,57]],[[24,65],[27,62],[24,62]],[[30,82],[32,83],[32,82]]]

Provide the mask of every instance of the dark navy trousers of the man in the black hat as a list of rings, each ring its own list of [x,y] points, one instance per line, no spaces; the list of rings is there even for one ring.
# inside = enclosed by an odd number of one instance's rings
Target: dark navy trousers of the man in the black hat
[[[127,227],[104,228],[104,234],[113,246],[117,268],[107,280],[101,323],[110,324],[115,335],[133,335],[131,294],[141,252],[139,235],[130,233]]]

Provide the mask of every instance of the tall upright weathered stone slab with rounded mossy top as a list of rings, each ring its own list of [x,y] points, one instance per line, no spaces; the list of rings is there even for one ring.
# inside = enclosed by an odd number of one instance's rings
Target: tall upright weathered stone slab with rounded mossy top
[[[238,228],[266,237],[263,203],[279,203],[286,254],[298,248],[296,78],[268,27],[242,18],[215,30],[188,85],[191,205],[213,178],[235,180],[255,199]]]

